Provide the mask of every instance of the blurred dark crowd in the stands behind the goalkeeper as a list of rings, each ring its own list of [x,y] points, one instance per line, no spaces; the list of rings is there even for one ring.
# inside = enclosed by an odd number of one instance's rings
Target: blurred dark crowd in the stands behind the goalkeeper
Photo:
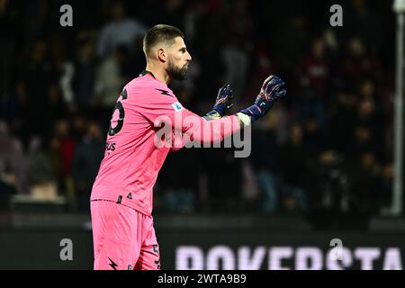
[[[154,24],[182,29],[193,62],[172,90],[200,115],[229,83],[237,112],[269,74],[287,98],[252,130],[252,153],[171,153],[155,211],[379,214],[392,199],[394,25],[389,1],[0,0],[0,206],[55,193],[88,211],[121,88],[145,67]],[[71,4],[73,27],[59,7]]]

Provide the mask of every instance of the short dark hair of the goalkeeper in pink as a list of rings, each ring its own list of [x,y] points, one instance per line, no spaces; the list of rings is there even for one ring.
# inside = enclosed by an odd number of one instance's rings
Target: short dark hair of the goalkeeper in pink
[[[150,49],[157,43],[167,42],[169,45],[173,44],[176,37],[184,38],[184,33],[170,25],[157,24],[150,28],[143,38],[143,51],[148,58]]]

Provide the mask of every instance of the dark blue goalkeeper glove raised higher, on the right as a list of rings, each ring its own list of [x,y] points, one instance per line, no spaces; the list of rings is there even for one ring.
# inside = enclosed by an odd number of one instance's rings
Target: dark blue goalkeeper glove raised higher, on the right
[[[278,98],[285,96],[287,91],[284,89],[284,85],[284,81],[280,77],[268,76],[263,82],[255,103],[240,112],[249,116],[250,123],[257,121],[266,115]]]

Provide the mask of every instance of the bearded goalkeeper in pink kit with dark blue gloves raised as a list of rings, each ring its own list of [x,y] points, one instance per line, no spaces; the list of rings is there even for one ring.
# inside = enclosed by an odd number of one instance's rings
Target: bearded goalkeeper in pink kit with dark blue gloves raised
[[[269,76],[250,107],[222,117],[232,105],[231,90],[224,85],[212,111],[200,117],[185,109],[167,87],[171,80],[185,78],[192,60],[183,32],[173,26],[156,25],[145,35],[143,50],[147,67],[124,86],[117,99],[93,185],[94,269],[160,268],[151,215],[152,189],[170,148],[157,145],[158,119],[164,118],[173,125],[171,130],[193,141],[220,142],[264,116],[286,93],[284,82]],[[215,129],[222,124],[230,129]]]

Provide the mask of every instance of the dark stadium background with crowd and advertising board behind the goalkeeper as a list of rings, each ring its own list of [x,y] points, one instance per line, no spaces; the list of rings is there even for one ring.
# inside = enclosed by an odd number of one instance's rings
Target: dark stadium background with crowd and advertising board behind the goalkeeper
[[[62,4],[73,27],[60,26]],[[332,4],[343,27],[329,24]],[[352,259],[341,266],[402,268],[405,222],[386,213],[394,19],[378,0],[0,0],[0,268],[91,269],[91,185],[156,23],[185,33],[189,79],[172,88],[190,110],[208,112],[229,83],[238,111],[268,74],[288,90],[254,127],[250,157],[169,155],[154,206],[163,268],[336,268],[334,238]],[[59,257],[64,238],[72,261]]]

